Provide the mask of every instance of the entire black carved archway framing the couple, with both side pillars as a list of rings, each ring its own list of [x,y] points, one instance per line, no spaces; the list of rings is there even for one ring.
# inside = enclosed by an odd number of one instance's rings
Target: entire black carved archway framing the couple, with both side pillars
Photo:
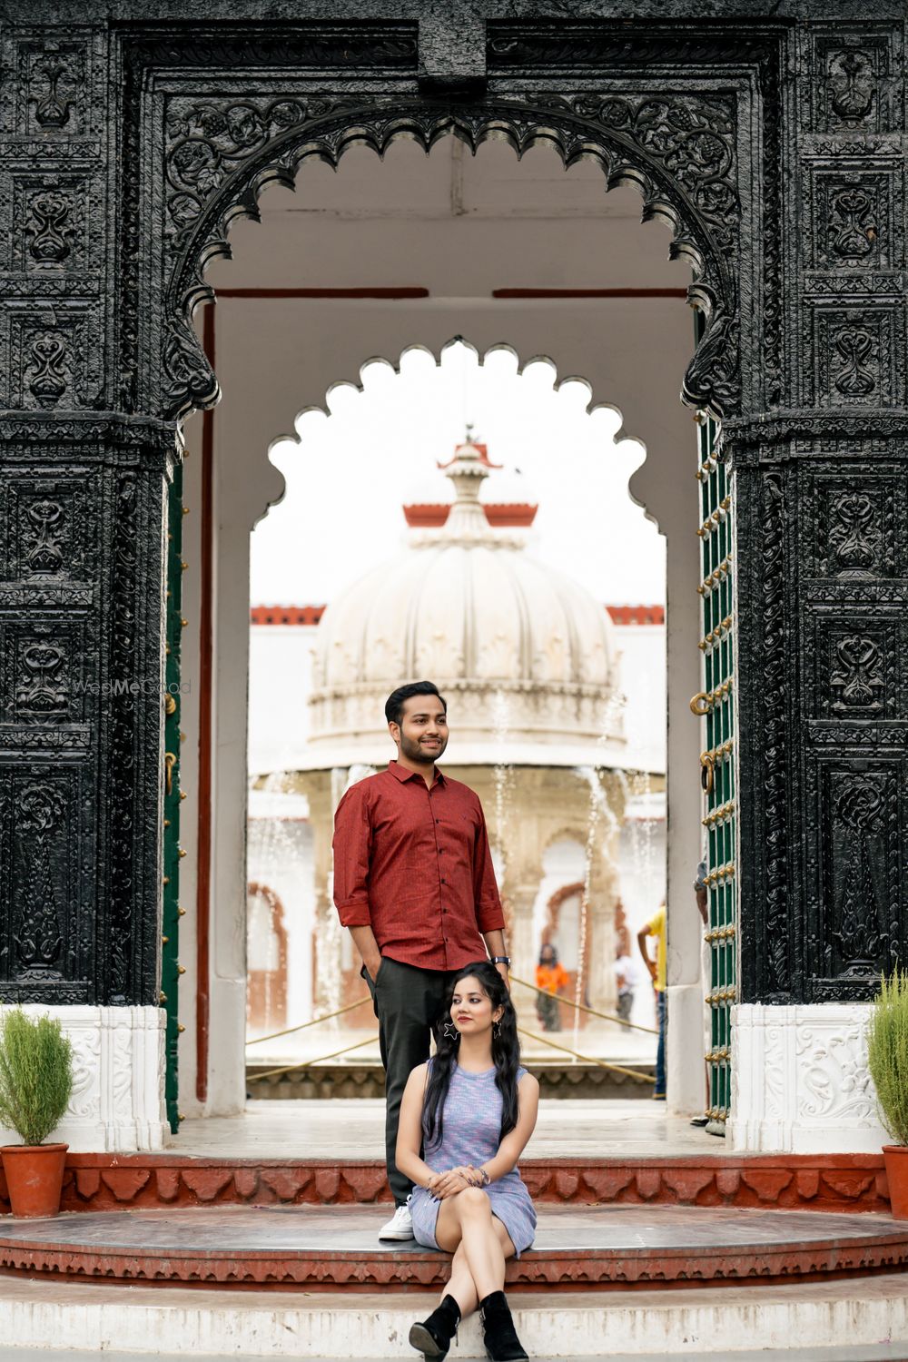
[[[4,997],[109,1007],[120,1071],[157,1062],[166,489],[216,395],[189,312],[230,217],[351,140],[545,138],[674,223],[708,319],[686,392],[734,470],[741,1140],[863,1139],[848,1005],[908,948],[903,7],[265,8],[38,4],[3,34]],[[154,1143],[128,1100],[98,1120]]]

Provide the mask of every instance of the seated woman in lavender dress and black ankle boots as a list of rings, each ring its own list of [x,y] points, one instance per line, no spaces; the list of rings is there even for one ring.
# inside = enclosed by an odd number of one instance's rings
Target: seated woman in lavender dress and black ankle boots
[[[447,1355],[476,1305],[493,1362],[527,1357],[504,1284],[505,1260],[520,1257],[536,1229],[517,1159],[538,1107],[539,1084],[520,1066],[517,1017],[501,975],[487,962],[463,968],[437,1053],[410,1075],[398,1128],[396,1163],[415,1184],[417,1242],[453,1253],[441,1305],[410,1329],[427,1358]]]

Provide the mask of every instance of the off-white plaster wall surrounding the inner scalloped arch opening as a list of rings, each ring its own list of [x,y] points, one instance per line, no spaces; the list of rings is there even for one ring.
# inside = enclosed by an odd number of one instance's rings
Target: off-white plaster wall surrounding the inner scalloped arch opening
[[[668,236],[640,229],[633,191],[603,193],[602,173],[569,174],[549,153],[517,162],[489,144],[472,159],[442,143],[433,157],[395,144],[384,163],[354,151],[335,176],[306,166],[294,200],[270,191],[263,223],[237,223],[233,264],[215,286],[429,289],[417,301],[233,298],[216,311],[216,369],[225,398],[215,417],[215,866],[210,1098],[207,1110],[242,1105],[245,1019],[245,708],[249,530],[282,494],[267,462],[297,413],[324,406],[327,390],[357,380],[372,357],[396,361],[411,345],[438,354],[463,335],[479,353],[509,345],[523,362],[550,357],[558,377],[584,377],[592,403],[621,409],[626,434],[647,445],[632,492],[667,535],[668,563],[668,914],[670,985],[698,989],[700,944],[686,903],[698,858],[700,737],[687,700],[698,684],[698,582],[694,432],[679,400],[693,350],[690,313],[677,298],[520,300],[501,287],[685,287],[667,263]],[[331,508],[325,508],[329,513]],[[197,568],[197,561],[196,561]],[[187,858],[188,861],[189,858]],[[185,862],[184,862],[185,865]],[[185,922],[185,919],[184,919]],[[184,977],[189,982],[189,975]],[[701,1105],[698,1015],[672,1019],[670,1105]],[[188,1022],[188,1028],[192,1023]],[[184,1042],[187,1036],[184,1036]],[[184,1043],[182,1051],[192,1049]]]

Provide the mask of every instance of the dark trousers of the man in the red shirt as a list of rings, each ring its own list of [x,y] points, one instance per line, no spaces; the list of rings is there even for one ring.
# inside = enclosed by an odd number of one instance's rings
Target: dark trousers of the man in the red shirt
[[[417,1065],[429,1058],[432,1032],[455,974],[455,970],[418,970],[387,955],[374,982],[362,971],[378,1017],[378,1046],[385,1066],[385,1163],[396,1205],[403,1205],[412,1192],[410,1178],[395,1163],[403,1090]]]

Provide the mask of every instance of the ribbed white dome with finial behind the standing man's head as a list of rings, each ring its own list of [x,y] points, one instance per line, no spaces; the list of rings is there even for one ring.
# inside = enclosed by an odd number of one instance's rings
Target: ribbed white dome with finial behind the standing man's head
[[[403,554],[321,617],[308,764],[387,760],[385,699],[415,680],[434,681],[448,700],[448,765],[619,764],[604,606],[530,557],[520,535],[490,528],[478,501],[487,469],[470,445],[448,477],[456,500],[447,524],[412,533]]]

